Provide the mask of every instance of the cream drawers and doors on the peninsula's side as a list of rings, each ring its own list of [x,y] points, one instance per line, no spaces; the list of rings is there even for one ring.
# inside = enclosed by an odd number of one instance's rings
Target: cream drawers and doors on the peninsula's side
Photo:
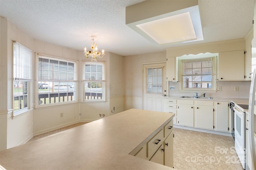
[[[148,140],[134,156],[173,168],[173,119]]]

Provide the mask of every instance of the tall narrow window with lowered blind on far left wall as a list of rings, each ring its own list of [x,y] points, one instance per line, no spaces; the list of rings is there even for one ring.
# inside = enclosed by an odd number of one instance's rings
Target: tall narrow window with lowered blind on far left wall
[[[32,81],[32,51],[13,42],[14,114],[29,108],[29,82]]]

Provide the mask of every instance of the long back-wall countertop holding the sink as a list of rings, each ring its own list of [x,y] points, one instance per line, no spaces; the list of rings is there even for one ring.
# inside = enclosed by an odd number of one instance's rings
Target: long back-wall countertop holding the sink
[[[244,98],[218,98],[213,97],[213,99],[202,99],[202,98],[180,98],[181,96],[166,96],[164,98],[171,99],[182,99],[182,100],[207,100],[207,101],[220,101],[220,102],[233,102],[235,104],[249,104],[249,99]]]

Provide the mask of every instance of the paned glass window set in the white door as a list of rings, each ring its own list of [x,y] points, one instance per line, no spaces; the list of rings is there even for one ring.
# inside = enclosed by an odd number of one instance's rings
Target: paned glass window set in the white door
[[[147,68],[147,92],[162,93],[162,67]]]

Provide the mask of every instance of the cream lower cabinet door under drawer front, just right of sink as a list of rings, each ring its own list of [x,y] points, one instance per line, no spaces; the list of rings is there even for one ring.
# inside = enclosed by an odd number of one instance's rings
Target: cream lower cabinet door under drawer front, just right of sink
[[[213,107],[196,106],[196,127],[213,129]]]

